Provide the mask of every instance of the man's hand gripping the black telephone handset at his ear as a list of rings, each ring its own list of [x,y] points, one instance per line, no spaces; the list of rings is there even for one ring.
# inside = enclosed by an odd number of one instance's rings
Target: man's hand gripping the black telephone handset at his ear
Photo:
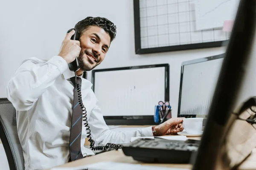
[[[73,62],[79,56],[81,51],[80,42],[78,40],[70,40],[75,31],[67,33],[65,39],[62,41],[61,51],[58,56],[61,56],[67,63]]]

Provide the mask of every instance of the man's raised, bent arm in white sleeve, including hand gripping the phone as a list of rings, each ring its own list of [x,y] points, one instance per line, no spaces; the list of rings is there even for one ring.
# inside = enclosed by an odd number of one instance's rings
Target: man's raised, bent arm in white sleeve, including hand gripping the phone
[[[28,59],[17,69],[7,85],[7,98],[17,111],[29,110],[39,96],[67,69],[67,63],[74,61],[79,55],[80,42],[70,40],[74,33],[75,31],[67,33],[58,56],[44,63],[38,59]]]

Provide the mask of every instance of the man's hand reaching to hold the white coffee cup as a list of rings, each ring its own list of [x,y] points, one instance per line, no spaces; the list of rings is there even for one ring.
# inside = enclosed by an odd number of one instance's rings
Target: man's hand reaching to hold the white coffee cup
[[[185,117],[171,118],[155,127],[157,136],[175,135],[183,131],[182,122]]]

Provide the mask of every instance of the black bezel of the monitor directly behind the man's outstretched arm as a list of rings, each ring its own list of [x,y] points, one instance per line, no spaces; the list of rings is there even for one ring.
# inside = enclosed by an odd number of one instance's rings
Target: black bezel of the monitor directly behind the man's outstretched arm
[[[95,74],[102,71],[120,71],[120,70],[131,70],[131,69],[142,69],[142,68],[165,68],[165,79],[164,79],[164,98],[165,101],[169,101],[169,64],[154,64],[154,65],[138,65],[130,67],[118,67],[118,68],[103,68],[95,69],[92,71],[92,90],[94,92],[95,85]],[[157,105],[157,104],[156,104]],[[154,106],[152,106],[154,109]],[[154,122],[154,116],[138,115],[138,116],[103,116],[107,125],[156,125]]]

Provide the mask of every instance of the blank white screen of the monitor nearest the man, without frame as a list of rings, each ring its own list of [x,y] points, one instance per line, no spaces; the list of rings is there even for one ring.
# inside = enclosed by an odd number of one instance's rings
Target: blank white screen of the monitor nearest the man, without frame
[[[154,106],[165,99],[165,72],[165,67],[96,71],[94,93],[103,116],[153,116]]]

